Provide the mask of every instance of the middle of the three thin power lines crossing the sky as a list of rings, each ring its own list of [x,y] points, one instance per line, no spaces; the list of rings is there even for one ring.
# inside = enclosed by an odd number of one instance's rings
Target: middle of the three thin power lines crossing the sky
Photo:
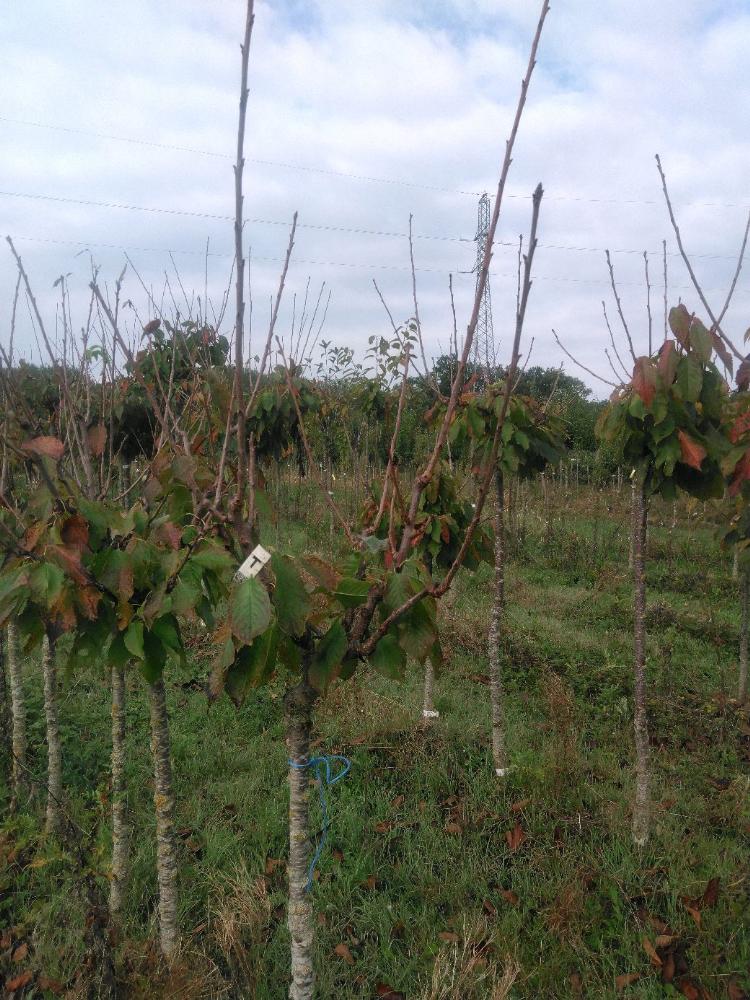
[[[186,218],[192,219],[210,219],[214,222],[234,222],[233,215],[218,215],[211,212],[195,212],[188,209],[181,208],[164,208],[160,206],[147,206],[147,205],[128,205],[122,202],[110,202],[110,201],[96,201],[92,198],[71,198],[63,195],[51,195],[51,194],[37,194],[27,191],[0,191],[0,197],[5,198],[25,198],[30,201],[51,201],[64,205],[84,205],[88,208],[106,208],[106,209],[121,209],[123,211],[129,212],[148,212],[156,215],[177,215],[184,216]],[[259,226],[281,226],[288,228],[290,226],[289,220],[284,219],[246,219],[246,224],[249,225],[259,225]],[[355,236],[377,236],[389,239],[404,239],[409,238],[409,234],[406,232],[396,232],[380,229],[367,229],[362,226],[336,226],[326,223],[313,223],[313,222],[298,222],[298,229],[310,229],[317,232],[329,232],[329,233],[347,233]],[[449,236],[442,233],[414,233],[414,239],[418,240],[431,240],[439,243],[474,243],[476,237],[468,236]],[[606,249],[609,249],[610,253],[618,254],[637,254],[638,256],[643,255],[643,248],[637,249],[632,247],[622,247],[622,248],[606,248],[606,247],[588,247],[588,246],[575,246],[561,243],[538,243],[540,249],[545,250],[564,250],[575,253],[599,253],[604,254]],[[517,243],[510,240],[495,240],[493,246],[500,247],[516,247]],[[648,253],[654,254],[655,256],[661,256],[662,250],[649,250]],[[680,257],[678,251],[668,251],[668,257]],[[691,259],[693,260],[731,260],[736,261],[737,256],[732,254],[691,254]]]

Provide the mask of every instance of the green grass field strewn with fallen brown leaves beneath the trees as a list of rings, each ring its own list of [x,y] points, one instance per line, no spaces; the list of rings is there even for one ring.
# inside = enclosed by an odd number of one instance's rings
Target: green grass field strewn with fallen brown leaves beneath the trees
[[[564,520],[553,517],[546,539],[538,506],[522,525],[507,585],[505,781],[489,746],[489,567],[463,574],[443,611],[435,724],[421,725],[416,667],[403,685],[363,670],[319,706],[318,746],[352,760],[330,790],[313,889],[325,1000],[736,1000],[750,991],[750,725],[733,700],[736,585],[709,528],[681,510],[670,531],[671,507],[654,505],[654,823],[638,852],[625,492],[560,499]],[[312,541],[325,553],[325,524]],[[188,669],[169,675],[184,929],[171,972],[155,943],[148,709],[143,682],[129,679],[133,869],[117,940],[127,997],[287,993],[284,679],[239,712],[227,700],[209,706],[210,656],[196,636]],[[31,766],[43,778],[41,694],[29,662]],[[91,831],[101,874],[108,712],[104,669],[62,675],[68,808]],[[25,996],[64,995],[82,961],[76,861],[45,841],[42,806],[40,791],[27,811],[6,814],[0,835],[2,981],[24,969],[53,980],[46,991],[32,980]]]

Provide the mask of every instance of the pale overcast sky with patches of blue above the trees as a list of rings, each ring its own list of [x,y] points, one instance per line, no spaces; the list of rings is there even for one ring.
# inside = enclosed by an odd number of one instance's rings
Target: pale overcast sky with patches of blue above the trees
[[[399,234],[413,213],[420,311],[428,350],[439,353],[451,330],[449,273],[466,324],[477,196],[497,184],[539,4],[278,0],[256,9],[245,175],[246,217],[266,220],[246,230],[256,338],[295,209],[311,228],[299,230],[285,330],[292,295],[299,302],[308,277],[315,294],[323,281],[332,291],[323,337],[335,343],[361,350],[369,335],[388,331],[373,278],[396,319],[407,319],[409,251]],[[208,291],[218,309],[231,221],[201,214],[230,217],[234,209],[243,23],[240,0],[4,5],[0,231],[16,240],[50,328],[52,283],[62,273],[71,276],[74,322],[85,319],[86,248],[110,282],[124,260],[118,248],[126,248],[159,297],[165,270],[176,287],[172,250],[189,297],[204,294],[208,240]],[[653,251],[655,337],[662,334],[662,240],[670,253],[676,248],[656,152],[688,248],[701,255],[698,273],[720,303],[750,207],[749,51],[747,0],[553,3],[501,217],[499,239],[508,245],[493,262],[501,357],[515,308],[515,244],[538,181],[545,196],[527,324],[532,364],[562,360],[554,327],[584,363],[612,377],[603,356],[601,302],[611,300],[605,247],[616,251],[642,349],[642,251]],[[700,311],[680,260],[668,261],[670,301],[681,297]],[[6,339],[15,278],[7,249],[0,262]],[[126,294],[148,313],[133,274]],[[726,325],[738,339],[750,325],[750,266]],[[26,357],[38,357],[25,302],[18,339]],[[566,370],[574,371],[569,362]]]

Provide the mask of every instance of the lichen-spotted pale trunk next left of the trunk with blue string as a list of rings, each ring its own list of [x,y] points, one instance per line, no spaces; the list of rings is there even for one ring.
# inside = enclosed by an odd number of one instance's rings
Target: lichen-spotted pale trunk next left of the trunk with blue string
[[[159,883],[161,950],[172,961],[179,945],[177,930],[177,845],[174,829],[174,788],[169,744],[169,717],[164,678],[149,685],[151,756],[154,763],[156,811],[156,877]]]

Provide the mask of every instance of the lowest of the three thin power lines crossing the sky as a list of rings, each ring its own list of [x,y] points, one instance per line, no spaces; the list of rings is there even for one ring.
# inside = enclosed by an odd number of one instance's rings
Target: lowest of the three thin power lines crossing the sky
[[[115,243],[99,243],[90,240],[59,240],[53,239],[52,237],[44,236],[14,236],[15,240],[24,240],[30,243],[42,243],[42,244],[52,244],[55,246],[76,246],[81,247],[82,250],[86,250],[89,247],[97,247],[99,249],[106,250],[119,250],[123,253],[160,253],[160,254],[174,254],[179,256],[198,256],[205,258],[209,257],[220,257],[223,259],[232,259],[234,257],[233,253],[223,252],[217,250],[179,250],[179,249],[169,249],[167,247],[134,247],[134,246],[121,246]],[[250,255],[251,263],[264,263],[264,264],[283,264],[283,257],[265,257],[256,256],[255,254]],[[341,261],[341,260],[309,260],[301,257],[292,257],[293,264],[305,264],[311,267],[341,267],[353,270],[377,270],[377,271],[403,271],[411,273],[411,267],[406,264],[382,264],[372,261]],[[415,271],[422,274],[440,274],[444,277],[448,277],[449,274],[454,274],[458,277],[473,276],[475,277],[474,269],[470,271],[456,270],[450,271],[446,268],[438,267],[415,267]],[[515,271],[491,271],[491,277],[493,278],[513,278],[517,277]],[[609,287],[609,279],[607,278],[570,278],[566,276],[558,275],[534,275],[533,281],[543,281],[543,282],[557,282],[562,284],[574,284],[574,285],[600,285]],[[644,281],[618,281],[619,288],[645,288],[646,284]],[[670,291],[692,291],[692,285],[670,285]],[[706,294],[719,294],[725,293],[725,288],[705,288],[704,292]],[[737,293],[742,295],[750,294],[749,288],[737,288]]]

